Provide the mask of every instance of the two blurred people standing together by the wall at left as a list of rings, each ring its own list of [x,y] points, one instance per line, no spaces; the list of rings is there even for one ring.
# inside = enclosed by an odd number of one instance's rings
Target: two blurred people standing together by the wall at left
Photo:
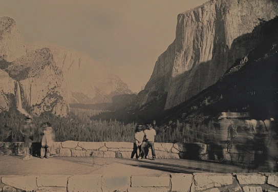
[[[35,135],[35,124],[32,123],[30,117],[27,117],[25,121],[25,124],[20,129],[20,133],[22,133],[24,141],[23,159],[28,160],[33,158],[32,141],[34,140]],[[55,137],[51,123],[42,123],[38,129],[38,135],[41,136],[40,158],[49,158]]]

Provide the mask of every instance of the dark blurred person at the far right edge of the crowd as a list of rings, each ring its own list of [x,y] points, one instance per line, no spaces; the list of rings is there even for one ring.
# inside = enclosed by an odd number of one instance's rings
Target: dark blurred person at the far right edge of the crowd
[[[264,123],[268,132],[268,139],[265,140],[266,161],[268,164],[269,172],[273,173],[277,170],[278,130],[273,118],[265,120]]]

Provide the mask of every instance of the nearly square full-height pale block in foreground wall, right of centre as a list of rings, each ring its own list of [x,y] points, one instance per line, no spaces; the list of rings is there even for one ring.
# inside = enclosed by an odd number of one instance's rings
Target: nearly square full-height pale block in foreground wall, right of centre
[[[171,174],[171,191],[188,192],[193,182],[193,175],[191,174]]]

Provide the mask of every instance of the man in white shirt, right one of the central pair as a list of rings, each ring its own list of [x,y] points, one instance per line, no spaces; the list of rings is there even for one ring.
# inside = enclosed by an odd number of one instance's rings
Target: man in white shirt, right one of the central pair
[[[146,158],[146,153],[145,153],[145,148],[151,147],[152,150],[152,156],[153,160],[156,158],[156,153],[155,153],[155,136],[156,136],[156,131],[153,129],[152,124],[147,124],[147,129],[144,131],[145,135],[145,142],[142,143],[141,148],[142,148],[142,153],[143,153],[143,158]]]

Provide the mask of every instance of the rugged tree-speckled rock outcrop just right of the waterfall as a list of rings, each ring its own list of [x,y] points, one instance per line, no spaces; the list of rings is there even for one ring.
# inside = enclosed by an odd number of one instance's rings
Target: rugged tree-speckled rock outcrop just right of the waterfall
[[[9,78],[19,82],[20,90],[17,88],[14,95],[20,93],[24,109],[29,108],[33,115],[50,111],[56,115],[67,116],[67,86],[50,49],[31,51],[13,62],[6,62],[6,66],[2,62],[1,67],[9,73]],[[17,87],[16,85],[17,83],[14,83],[12,87]]]

